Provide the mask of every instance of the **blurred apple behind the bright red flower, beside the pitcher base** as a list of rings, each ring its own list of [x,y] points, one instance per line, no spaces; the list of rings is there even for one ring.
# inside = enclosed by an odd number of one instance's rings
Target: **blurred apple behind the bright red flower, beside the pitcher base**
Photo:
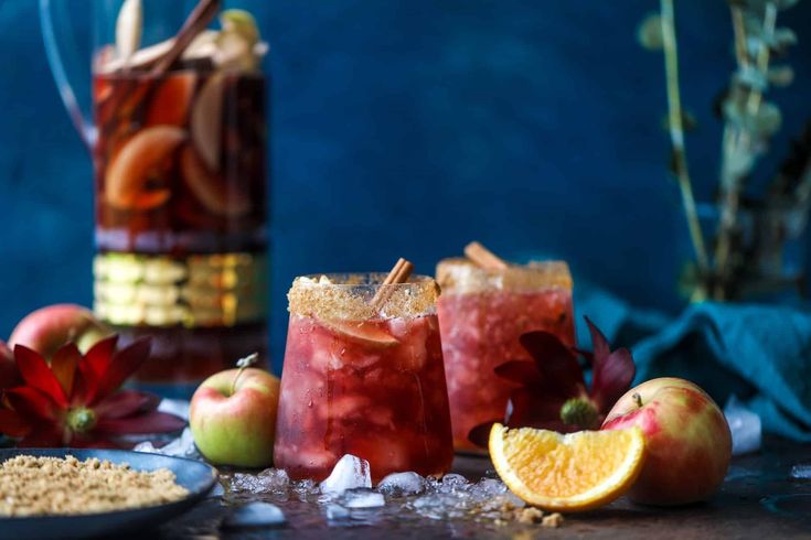
[[[111,334],[90,310],[76,304],[54,304],[28,314],[9,337],[9,348],[24,345],[51,358],[68,342],[75,342],[82,353]]]

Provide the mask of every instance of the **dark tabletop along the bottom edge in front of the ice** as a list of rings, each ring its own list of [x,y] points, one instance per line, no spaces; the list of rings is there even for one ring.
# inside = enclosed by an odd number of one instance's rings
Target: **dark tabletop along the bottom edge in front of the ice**
[[[360,519],[330,522],[324,505],[296,498],[260,497],[287,517],[280,527],[223,530],[233,505],[257,498],[218,490],[193,510],[138,538],[811,538],[811,482],[792,479],[793,465],[811,465],[811,445],[768,439],[756,454],[735,457],[721,490],[708,501],[681,508],[638,506],[621,498],[604,508],[565,516],[552,529],[517,521],[429,519],[387,503]],[[457,473],[478,479],[491,471],[487,458],[458,457]],[[489,473],[492,474],[492,473]],[[227,473],[224,475],[227,478]]]

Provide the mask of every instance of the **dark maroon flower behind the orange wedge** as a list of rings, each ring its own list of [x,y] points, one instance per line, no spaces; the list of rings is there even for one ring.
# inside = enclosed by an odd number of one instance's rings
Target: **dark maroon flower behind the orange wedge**
[[[519,385],[510,395],[504,421],[511,428],[531,426],[567,433],[599,429],[615,402],[631,387],[637,368],[627,348],[611,352],[602,333],[586,317],[594,353],[564,344],[549,332],[522,334],[521,345],[534,361],[510,360],[495,374]],[[586,385],[577,357],[591,367],[591,386]],[[487,446],[491,422],[477,425],[470,440]]]

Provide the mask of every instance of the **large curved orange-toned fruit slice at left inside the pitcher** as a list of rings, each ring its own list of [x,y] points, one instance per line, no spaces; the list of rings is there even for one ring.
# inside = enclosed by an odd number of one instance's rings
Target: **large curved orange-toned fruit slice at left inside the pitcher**
[[[152,126],[136,133],[107,168],[107,203],[116,208],[142,210],[164,204],[171,192],[149,187],[150,177],[184,140],[185,131],[174,126]]]

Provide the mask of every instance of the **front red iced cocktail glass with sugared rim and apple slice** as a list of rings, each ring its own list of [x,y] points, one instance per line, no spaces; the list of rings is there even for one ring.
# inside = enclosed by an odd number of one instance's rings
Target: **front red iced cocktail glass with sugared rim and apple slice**
[[[374,482],[450,468],[436,283],[382,278],[294,282],[274,455],[292,478],[323,479],[344,454],[367,460]],[[391,298],[378,311],[381,287]]]

